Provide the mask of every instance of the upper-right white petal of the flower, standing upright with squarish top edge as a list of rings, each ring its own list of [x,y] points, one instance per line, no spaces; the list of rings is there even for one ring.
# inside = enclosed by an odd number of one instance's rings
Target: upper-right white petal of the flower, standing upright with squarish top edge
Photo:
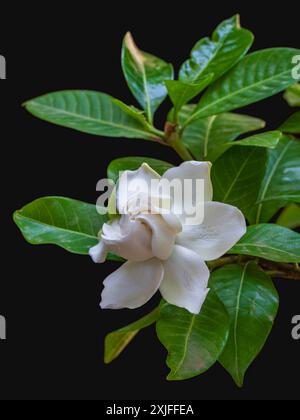
[[[185,180],[192,180],[193,181],[193,191],[192,197],[190,197],[190,207],[195,208],[197,205],[200,204],[199,198],[196,193],[196,181],[203,180],[204,181],[204,201],[212,201],[213,198],[213,187],[212,182],[210,179],[210,172],[211,172],[211,163],[209,162],[184,162],[177,168],[169,169],[163,176],[162,181],[167,179],[169,181],[179,180],[181,181],[181,185],[184,185]],[[182,188],[182,187],[181,187]],[[182,194],[174,194],[172,195],[173,203],[174,203],[174,213],[175,214],[182,214],[185,213],[183,210],[183,199],[186,201],[187,197],[184,192],[185,187],[183,187],[183,197]],[[201,200],[203,201],[203,199]],[[184,203],[186,204],[186,203]]]

